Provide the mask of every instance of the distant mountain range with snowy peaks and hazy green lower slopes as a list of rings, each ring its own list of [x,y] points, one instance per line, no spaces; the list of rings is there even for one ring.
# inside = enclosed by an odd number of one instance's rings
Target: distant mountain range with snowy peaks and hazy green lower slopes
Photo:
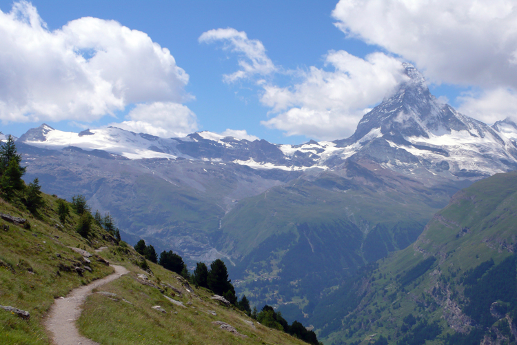
[[[16,143],[26,179],[85,195],[126,241],[172,249],[191,267],[223,258],[252,303],[312,320],[358,270],[412,244],[460,188],[517,168],[514,122],[462,115],[404,67],[406,81],[347,139],[280,145],[43,124]]]

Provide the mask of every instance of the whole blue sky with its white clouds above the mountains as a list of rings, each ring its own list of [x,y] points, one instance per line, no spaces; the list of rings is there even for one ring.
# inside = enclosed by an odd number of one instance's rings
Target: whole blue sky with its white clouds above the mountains
[[[0,130],[349,137],[413,63],[487,124],[517,121],[517,0],[0,0]]]

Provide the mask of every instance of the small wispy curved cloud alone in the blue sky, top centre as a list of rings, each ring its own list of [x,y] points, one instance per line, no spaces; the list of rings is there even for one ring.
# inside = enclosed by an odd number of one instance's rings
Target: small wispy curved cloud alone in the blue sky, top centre
[[[264,45],[257,39],[248,39],[243,31],[234,28],[214,29],[203,32],[199,37],[201,43],[223,41],[223,49],[239,55],[240,70],[231,75],[224,75],[227,83],[247,79],[255,75],[269,75],[276,70],[274,63],[265,53]]]

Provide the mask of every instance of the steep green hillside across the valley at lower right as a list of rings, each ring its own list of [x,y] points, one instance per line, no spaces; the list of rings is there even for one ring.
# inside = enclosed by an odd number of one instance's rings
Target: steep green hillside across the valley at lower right
[[[316,308],[318,336],[328,344],[514,344],[516,216],[517,172],[456,193],[412,246]]]

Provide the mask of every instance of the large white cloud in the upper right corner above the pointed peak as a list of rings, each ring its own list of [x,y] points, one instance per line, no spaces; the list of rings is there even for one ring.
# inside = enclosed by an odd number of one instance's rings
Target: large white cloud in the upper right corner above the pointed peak
[[[414,61],[431,81],[517,87],[517,6],[511,0],[341,0],[349,37]]]

